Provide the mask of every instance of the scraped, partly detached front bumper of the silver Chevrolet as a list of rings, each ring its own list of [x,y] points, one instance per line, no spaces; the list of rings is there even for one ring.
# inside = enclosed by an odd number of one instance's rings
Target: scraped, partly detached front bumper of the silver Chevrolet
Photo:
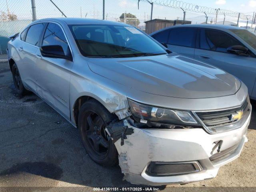
[[[164,185],[214,178],[220,166],[240,155],[250,116],[242,127],[219,134],[208,134],[202,128],[140,129],[124,120],[122,131],[114,138],[124,179],[133,184]],[[215,145],[220,140],[218,153]]]

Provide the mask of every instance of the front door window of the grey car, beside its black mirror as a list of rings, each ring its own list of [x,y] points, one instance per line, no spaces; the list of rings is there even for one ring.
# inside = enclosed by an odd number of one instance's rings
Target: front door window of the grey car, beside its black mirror
[[[219,51],[219,52],[227,52],[227,48],[234,45],[242,45],[238,40],[232,38],[228,34],[224,32],[220,32],[217,30],[204,30],[201,29],[200,32],[200,48],[211,50],[211,51]]]

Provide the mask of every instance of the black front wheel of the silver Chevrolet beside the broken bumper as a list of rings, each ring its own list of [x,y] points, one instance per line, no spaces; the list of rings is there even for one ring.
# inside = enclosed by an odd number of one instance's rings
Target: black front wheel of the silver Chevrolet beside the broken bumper
[[[116,117],[96,100],[88,100],[79,110],[78,129],[90,158],[102,166],[115,166],[118,152],[104,130]]]

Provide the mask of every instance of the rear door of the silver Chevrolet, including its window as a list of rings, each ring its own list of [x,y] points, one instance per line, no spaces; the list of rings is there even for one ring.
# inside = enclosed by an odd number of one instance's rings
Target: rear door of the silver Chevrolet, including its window
[[[18,52],[21,62],[18,65],[22,81],[33,91],[36,90],[36,51],[39,49],[41,34],[45,23],[38,23],[30,26],[21,33]]]

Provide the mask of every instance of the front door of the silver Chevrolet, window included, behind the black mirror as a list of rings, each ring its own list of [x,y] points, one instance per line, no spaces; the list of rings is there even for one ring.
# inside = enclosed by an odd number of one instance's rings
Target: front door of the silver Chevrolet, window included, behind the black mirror
[[[42,38],[42,46],[60,45],[65,54],[70,51],[62,27],[56,23],[48,23]],[[43,57],[38,49],[36,92],[62,116],[70,119],[69,82],[73,62],[64,58]]]

